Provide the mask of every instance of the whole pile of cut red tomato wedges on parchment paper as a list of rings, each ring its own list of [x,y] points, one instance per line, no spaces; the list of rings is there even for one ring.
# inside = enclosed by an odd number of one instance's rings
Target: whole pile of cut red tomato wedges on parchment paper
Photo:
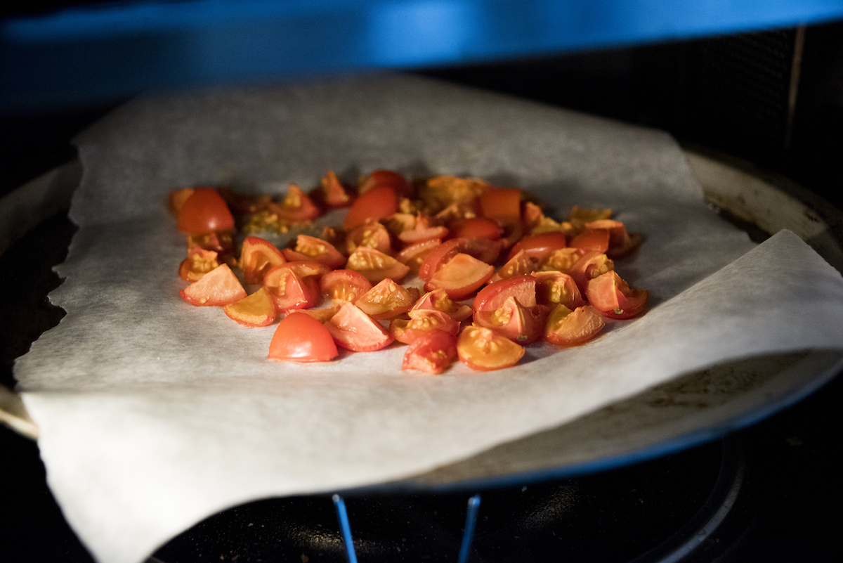
[[[181,297],[250,327],[281,318],[275,360],[326,362],[337,346],[398,341],[408,345],[404,369],[442,373],[457,358],[501,369],[536,341],[583,344],[604,318],[630,319],[649,299],[615,272],[641,237],[610,210],[574,206],[557,223],[523,190],[483,180],[411,183],[375,170],[343,185],[328,172],[309,192],[291,185],[282,201],[198,187],[171,191],[168,205],[187,237]],[[238,232],[303,230],[342,207],[341,226],[298,234],[287,248],[251,235],[237,243]]]

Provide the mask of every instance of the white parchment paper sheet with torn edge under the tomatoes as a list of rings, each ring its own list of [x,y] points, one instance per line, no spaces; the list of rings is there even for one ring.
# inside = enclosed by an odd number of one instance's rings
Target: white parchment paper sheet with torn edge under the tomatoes
[[[240,502],[416,475],[725,359],[843,348],[840,274],[792,233],[755,248],[722,222],[660,131],[386,77],[138,99],[78,146],[80,229],[51,293],[67,316],[15,374],[51,488],[100,561],[142,560]],[[274,327],[181,301],[168,190],[376,168],[518,185],[556,218],[611,206],[645,236],[617,270],[652,310],[502,372],[432,377],[402,373],[401,346],[269,362]]]

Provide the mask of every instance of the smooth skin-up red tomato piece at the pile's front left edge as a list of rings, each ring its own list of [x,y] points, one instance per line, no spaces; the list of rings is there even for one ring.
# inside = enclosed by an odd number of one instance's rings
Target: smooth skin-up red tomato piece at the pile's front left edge
[[[318,320],[291,313],[278,323],[267,357],[289,362],[327,362],[338,353],[330,332]]]

